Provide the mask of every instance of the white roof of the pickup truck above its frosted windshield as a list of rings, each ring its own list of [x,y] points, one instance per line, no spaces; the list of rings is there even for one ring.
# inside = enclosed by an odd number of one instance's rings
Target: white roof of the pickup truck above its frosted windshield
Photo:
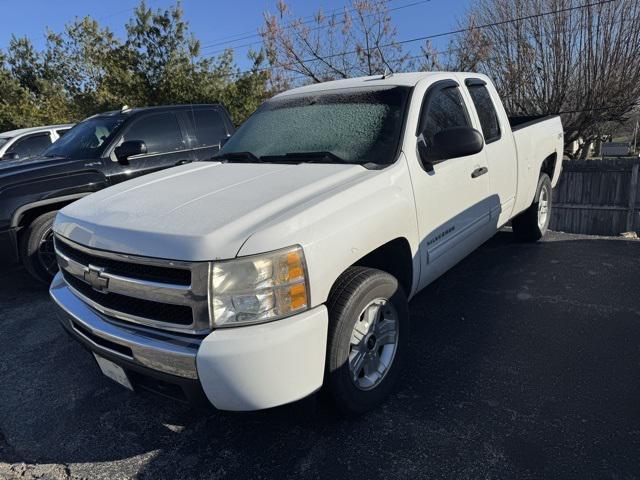
[[[454,75],[474,75],[479,78],[485,78],[484,75],[468,72],[410,72],[410,73],[394,73],[388,75],[372,75],[369,77],[347,78],[344,80],[332,80],[329,82],[313,83],[303,87],[294,88],[278,95],[295,95],[299,93],[317,92],[322,90],[335,90],[339,88],[354,87],[378,87],[378,86],[406,86],[413,87],[419,81],[429,77],[452,77]]]

